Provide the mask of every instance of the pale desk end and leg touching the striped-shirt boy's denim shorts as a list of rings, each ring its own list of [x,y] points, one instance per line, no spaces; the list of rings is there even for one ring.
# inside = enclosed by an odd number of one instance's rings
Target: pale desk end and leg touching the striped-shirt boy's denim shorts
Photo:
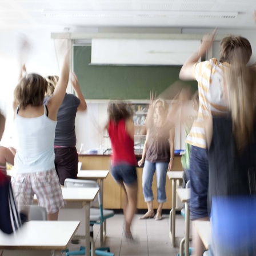
[[[183,255],[183,244],[185,242],[185,256],[189,256],[189,200],[190,189],[177,189],[178,197],[185,203],[185,238],[179,245],[179,255]]]

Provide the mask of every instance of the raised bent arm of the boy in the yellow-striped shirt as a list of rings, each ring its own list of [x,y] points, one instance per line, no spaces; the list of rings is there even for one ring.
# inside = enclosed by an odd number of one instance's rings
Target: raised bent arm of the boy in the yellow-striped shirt
[[[206,53],[207,50],[213,45],[217,29],[214,29],[213,33],[203,36],[201,46],[199,50],[192,54],[186,62],[183,64],[181,71],[179,72],[179,79],[181,80],[194,80],[193,66],[199,61],[199,58]]]

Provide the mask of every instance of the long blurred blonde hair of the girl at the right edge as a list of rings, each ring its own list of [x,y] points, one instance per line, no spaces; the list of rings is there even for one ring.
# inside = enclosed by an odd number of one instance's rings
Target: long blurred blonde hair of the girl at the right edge
[[[256,68],[240,61],[242,51],[234,54],[225,74],[226,95],[231,110],[237,149],[244,149],[254,137],[256,109]]]

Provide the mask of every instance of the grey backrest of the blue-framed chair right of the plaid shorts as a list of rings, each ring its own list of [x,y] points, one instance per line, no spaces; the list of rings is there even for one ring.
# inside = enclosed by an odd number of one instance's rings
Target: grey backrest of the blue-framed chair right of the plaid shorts
[[[97,181],[89,181],[87,179],[65,179],[65,187],[99,187]],[[101,191],[99,191],[98,196],[95,197],[94,201],[91,202],[91,207],[100,207],[101,203]]]

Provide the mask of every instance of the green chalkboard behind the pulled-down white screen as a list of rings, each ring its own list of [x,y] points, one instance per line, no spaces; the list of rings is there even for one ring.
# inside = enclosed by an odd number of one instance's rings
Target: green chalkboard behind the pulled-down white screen
[[[181,66],[90,65],[91,46],[74,46],[74,72],[86,99],[149,99],[150,91],[163,98],[177,93]],[[189,84],[197,90],[197,82]]]

